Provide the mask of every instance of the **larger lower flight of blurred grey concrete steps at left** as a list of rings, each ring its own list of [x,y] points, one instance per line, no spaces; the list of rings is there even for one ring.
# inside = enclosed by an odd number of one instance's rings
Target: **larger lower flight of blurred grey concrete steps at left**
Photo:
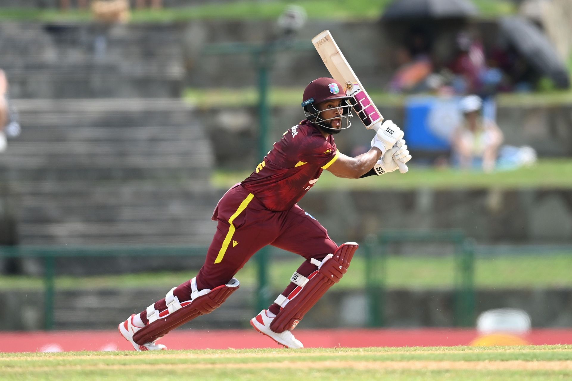
[[[209,185],[212,147],[192,107],[144,99],[14,105],[22,134],[0,156],[0,181],[17,211],[19,243],[210,243],[216,225],[205,222],[221,195]]]

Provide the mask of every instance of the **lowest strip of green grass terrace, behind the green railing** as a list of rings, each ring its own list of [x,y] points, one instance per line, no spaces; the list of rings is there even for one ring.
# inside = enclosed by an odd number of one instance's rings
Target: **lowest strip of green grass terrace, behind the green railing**
[[[281,289],[296,268],[300,258],[283,256],[270,264],[268,280],[272,288]],[[336,289],[362,289],[365,287],[366,261],[361,256],[352,260],[348,273]],[[475,260],[476,288],[558,288],[572,287],[572,253],[543,253],[477,257]],[[144,288],[173,287],[194,277],[198,269],[184,272],[152,272],[102,276],[58,276],[57,289]],[[247,263],[237,274],[241,284],[257,283],[255,261]],[[427,256],[390,256],[387,263],[389,288],[449,288],[454,282],[454,259]],[[0,289],[41,289],[41,277],[0,276]]]

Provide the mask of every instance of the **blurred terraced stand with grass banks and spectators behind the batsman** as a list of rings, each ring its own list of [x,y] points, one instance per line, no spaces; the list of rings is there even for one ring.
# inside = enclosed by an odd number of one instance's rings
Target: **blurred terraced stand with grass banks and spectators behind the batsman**
[[[570,328],[571,25],[569,0],[0,0],[0,330],[114,328],[194,276],[216,201],[329,76],[324,29],[413,160],[324,173],[301,201],[364,247],[307,326],[475,326],[510,307]],[[370,140],[336,136],[352,155]],[[298,262],[259,253],[194,327],[243,327]]]

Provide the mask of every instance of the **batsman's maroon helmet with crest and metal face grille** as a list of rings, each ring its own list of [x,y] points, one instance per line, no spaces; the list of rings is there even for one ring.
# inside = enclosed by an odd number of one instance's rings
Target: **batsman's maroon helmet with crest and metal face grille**
[[[305,117],[316,126],[328,134],[337,134],[341,130],[345,130],[351,126],[349,118],[353,115],[350,112],[352,107],[349,100],[351,97],[345,94],[345,88],[333,78],[320,77],[313,80],[304,89],[302,97],[302,107],[304,108]],[[337,108],[340,109],[339,115],[324,119],[320,117],[321,110],[320,104],[327,101],[341,100],[341,105]],[[331,109],[330,109],[331,110]],[[332,121],[340,119],[340,128],[332,127]]]

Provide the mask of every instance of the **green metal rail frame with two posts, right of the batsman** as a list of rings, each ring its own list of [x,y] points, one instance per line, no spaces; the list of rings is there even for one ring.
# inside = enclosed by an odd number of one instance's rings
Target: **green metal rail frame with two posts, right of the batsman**
[[[386,311],[387,256],[392,243],[449,243],[454,245],[455,316],[458,327],[474,324],[474,243],[460,230],[384,231],[365,245],[369,325],[383,327]]]

